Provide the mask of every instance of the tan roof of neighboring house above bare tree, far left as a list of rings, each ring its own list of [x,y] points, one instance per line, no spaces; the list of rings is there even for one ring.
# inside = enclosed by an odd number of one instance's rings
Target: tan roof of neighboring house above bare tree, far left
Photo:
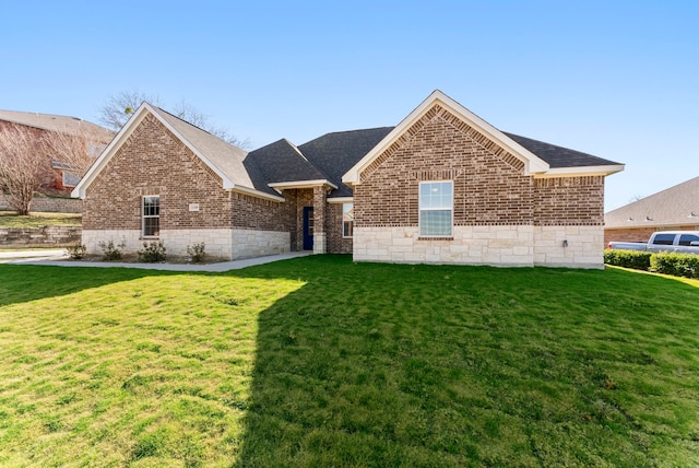
[[[114,138],[112,131],[79,117],[0,110],[0,120],[78,137],[88,133],[94,136],[95,142],[99,143],[108,143]]]

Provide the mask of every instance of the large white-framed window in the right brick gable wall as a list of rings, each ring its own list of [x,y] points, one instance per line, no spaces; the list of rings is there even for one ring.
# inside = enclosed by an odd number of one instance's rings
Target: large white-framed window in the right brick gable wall
[[[453,183],[422,182],[419,184],[420,237],[451,237],[453,215]]]

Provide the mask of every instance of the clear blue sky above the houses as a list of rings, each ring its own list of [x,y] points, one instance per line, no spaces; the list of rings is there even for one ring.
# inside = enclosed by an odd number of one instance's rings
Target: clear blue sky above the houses
[[[439,89],[625,163],[611,210],[699,175],[698,24],[695,0],[9,2],[0,108],[97,122],[138,89],[258,148],[393,126]]]

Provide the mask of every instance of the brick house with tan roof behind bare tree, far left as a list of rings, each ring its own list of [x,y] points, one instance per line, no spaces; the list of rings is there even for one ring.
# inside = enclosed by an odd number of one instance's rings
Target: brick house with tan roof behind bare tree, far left
[[[97,157],[114,133],[106,128],[88,122],[78,117],[58,116],[51,114],[24,113],[16,110],[0,110],[0,128],[19,127],[26,129],[36,140],[51,139],[55,134],[68,136],[84,145],[87,155]],[[47,174],[42,189],[45,194],[70,196],[71,190],[80,180],[75,168],[61,157],[61,154],[47,154],[50,160],[52,174]]]

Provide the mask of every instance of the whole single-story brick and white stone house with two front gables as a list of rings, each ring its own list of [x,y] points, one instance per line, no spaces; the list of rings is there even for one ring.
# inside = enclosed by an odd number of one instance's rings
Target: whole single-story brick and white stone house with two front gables
[[[603,265],[605,176],[624,165],[505,133],[440,91],[396,127],[251,152],[144,103],[73,191],[83,242],[171,254]]]

